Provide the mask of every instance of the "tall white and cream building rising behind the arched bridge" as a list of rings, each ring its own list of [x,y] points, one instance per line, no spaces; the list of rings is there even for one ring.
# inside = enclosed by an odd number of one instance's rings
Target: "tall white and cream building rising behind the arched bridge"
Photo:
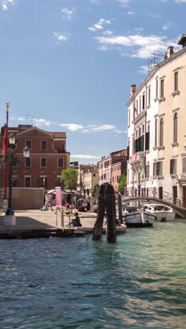
[[[157,64],[136,90],[131,86],[128,101],[128,188],[135,194],[162,198],[186,206],[186,35],[176,53],[168,47],[165,59]]]

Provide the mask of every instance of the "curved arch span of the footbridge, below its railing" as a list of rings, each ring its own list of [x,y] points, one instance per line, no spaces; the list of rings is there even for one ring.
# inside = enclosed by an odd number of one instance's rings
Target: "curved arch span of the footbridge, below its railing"
[[[173,208],[175,214],[178,214],[180,217],[186,219],[186,208],[182,207],[180,205],[176,205],[173,202],[169,202],[166,200],[162,200],[160,198],[154,198],[152,196],[130,196],[130,197],[123,197],[122,198],[123,202],[130,202],[130,201],[143,201],[147,202],[150,201],[151,203],[161,203],[163,205],[167,205],[168,207]]]

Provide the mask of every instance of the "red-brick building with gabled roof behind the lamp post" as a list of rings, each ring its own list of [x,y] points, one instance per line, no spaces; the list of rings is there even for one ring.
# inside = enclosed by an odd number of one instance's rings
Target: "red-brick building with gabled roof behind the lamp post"
[[[1,128],[4,136],[5,127]],[[13,161],[13,187],[46,188],[58,185],[58,176],[70,165],[66,152],[66,133],[44,131],[32,125],[9,127],[8,135],[16,135],[16,157]],[[23,148],[30,148],[30,157],[23,157]],[[1,167],[1,187],[4,185],[4,167]]]

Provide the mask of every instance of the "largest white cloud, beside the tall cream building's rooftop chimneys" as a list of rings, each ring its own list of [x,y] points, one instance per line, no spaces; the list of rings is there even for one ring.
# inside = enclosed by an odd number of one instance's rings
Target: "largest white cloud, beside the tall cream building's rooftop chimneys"
[[[137,58],[150,58],[154,51],[164,53],[168,46],[177,46],[176,41],[168,40],[166,36],[142,34],[134,35],[118,35],[112,37],[95,37],[101,46],[112,46],[119,48],[123,56],[131,56]],[[108,49],[109,50],[109,49]]]

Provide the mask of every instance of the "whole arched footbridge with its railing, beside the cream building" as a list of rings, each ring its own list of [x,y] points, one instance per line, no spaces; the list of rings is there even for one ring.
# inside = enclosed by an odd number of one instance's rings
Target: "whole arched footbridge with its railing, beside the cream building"
[[[178,214],[182,218],[186,218],[186,207],[185,201],[182,198],[175,198],[175,195],[171,193],[161,191],[157,188],[148,188],[144,189],[135,189],[135,188],[126,188],[125,196],[122,198],[123,202],[130,201],[143,201],[143,202],[153,202],[153,203],[161,203],[163,205],[167,205],[168,207],[173,208],[174,212]]]

